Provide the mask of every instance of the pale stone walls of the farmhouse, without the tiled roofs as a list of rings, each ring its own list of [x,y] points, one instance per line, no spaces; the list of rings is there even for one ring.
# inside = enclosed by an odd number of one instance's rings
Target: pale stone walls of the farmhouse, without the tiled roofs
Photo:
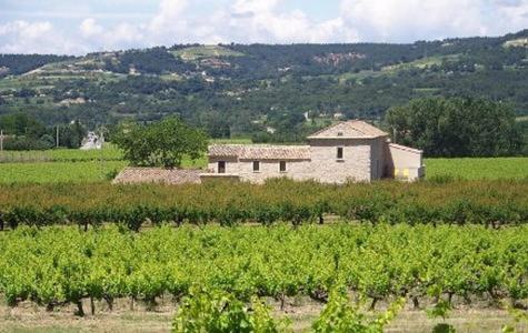
[[[337,149],[342,148],[342,159]],[[311,139],[310,160],[286,160],[286,172],[279,170],[281,160],[248,160],[210,158],[208,171],[218,173],[218,161],[226,162],[226,175],[240,181],[263,183],[266,179],[287,176],[293,180],[316,180],[323,183],[348,181],[369,182],[383,176],[409,180],[422,175],[421,151],[387,142],[387,137],[373,139]],[[253,161],[260,170],[253,171]],[[399,174],[401,173],[401,174]]]

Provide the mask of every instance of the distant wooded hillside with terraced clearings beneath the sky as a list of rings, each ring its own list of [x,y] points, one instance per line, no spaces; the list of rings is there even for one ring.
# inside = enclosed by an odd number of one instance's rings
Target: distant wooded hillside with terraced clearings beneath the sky
[[[428,95],[528,114],[528,30],[410,44],[177,44],[84,57],[0,54],[0,114],[88,127],[179,113],[213,137],[291,141]],[[308,120],[307,120],[308,118]],[[273,134],[270,134],[273,132]]]

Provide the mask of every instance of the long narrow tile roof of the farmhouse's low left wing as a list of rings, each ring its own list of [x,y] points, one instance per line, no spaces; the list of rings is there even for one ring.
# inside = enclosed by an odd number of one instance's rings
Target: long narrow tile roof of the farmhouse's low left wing
[[[309,145],[213,144],[209,157],[239,160],[310,160]]]

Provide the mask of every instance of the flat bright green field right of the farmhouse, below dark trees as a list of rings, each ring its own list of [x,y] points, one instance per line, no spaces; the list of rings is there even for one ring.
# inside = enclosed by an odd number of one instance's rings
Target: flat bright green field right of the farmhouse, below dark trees
[[[528,179],[528,158],[426,159],[426,179]]]

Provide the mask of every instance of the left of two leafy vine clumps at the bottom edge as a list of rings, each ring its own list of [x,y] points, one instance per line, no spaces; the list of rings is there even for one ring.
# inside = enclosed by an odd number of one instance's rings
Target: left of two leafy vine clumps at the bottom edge
[[[248,306],[230,293],[195,286],[181,302],[172,332],[283,332],[269,311],[257,297]]]

